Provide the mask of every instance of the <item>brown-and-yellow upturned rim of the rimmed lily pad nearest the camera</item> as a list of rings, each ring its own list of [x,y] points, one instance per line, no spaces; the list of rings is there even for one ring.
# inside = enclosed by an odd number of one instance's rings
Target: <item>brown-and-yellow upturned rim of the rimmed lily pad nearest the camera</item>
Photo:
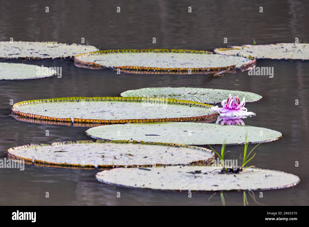
[[[52,144],[27,144],[27,145],[22,145],[22,146],[17,146],[17,147],[12,147],[9,148],[7,150],[8,152],[8,156],[10,156],[11,158],[16,158],[16,159],[20,159],[20,160],[25,160],[28,162],[35,162],[35,163],[40,163],[40,164],[46,164],[46,165],[50,165],[50,166],[72,166],[72,167],[80,167],[80,168],[95,168],[94,165],[84,165],[82,166],[81,164],[72,164],[72,163],[55,163],[55,162],[46,162],[46,161],[41,161],[41,160],[37,160],[37,159],[30,159],[30,158],[24,158],[24,157],[20,157],[17,156],[15,154],[12,154],[11,152],[14,150],[19,150],[19,149],[23,149],[23,148],[35,148],[36,146],[54,146],[54,145],[66,145],[66,144],[91,144],[91,143],[99,143],[99,144],[108,144],[108,143],[114,143],[114,144],[141,144],[141,145],[158,145],[158,146],[168,146],[168,147],[184,147],[184,148],[189,148],[189,149],[197,149],[197,150],[202,150],[205,152],[210,152],[211,154],[213,154],[212,157],[208,158],[208,159],[204,159],[204,160],[197,160],[197,161],[193,161],[190,162],[188,164],[194,164],[194,163],[203,163],[203,162],[208,162],[210,160],[212,160],[215,157],[215,154],[213,151],[211,151],[210,149],[206,149],[203,147],[198,147],[198,146],[191,146],[191,145],[184,145],[184,144],[173,144],[173,143],[160,143],[160,142],[144,142],[144,141],[128,141],[128,140],[96,140],[96,141],[92,141],[92,140],[78,140],[78,141],[63,141],[63,142],[54,142]],[[188,165],[186,164],[186,165]],[[183,165],[183,164],[181,164]],[[152,164],[149,165],[140,165],[140,166],[152,166]],[[168,165],[168,164],[157,164],[156,166],[178,166],[178,165]],[[115,167],[139,167],[139,165],[98,165],[97,168],[115,168]]]

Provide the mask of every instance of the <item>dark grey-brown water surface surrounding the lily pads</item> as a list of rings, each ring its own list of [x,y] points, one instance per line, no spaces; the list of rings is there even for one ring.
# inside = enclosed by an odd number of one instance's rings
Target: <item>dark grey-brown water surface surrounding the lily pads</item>
[[[1,1],[0,41],[90,40],[100,49],[186,48],[212,51],[228,44],[301,42],[309,40],[308,1]],[[49,6],[49,13],[45,7]],[[116,7],[121,13],[116,13]],[[192,13],[188,13],[192,6]],[[263,6],[263,13],[259,7]],[[156,44],[152,38],[156,37]],[[0,60],[8,62],[9,60]],[[22,62],[22,61],[9,61]],[[257,201],[265,205],[307,205],[309,201],[308,61],[260,60],[274,67],[274,77],[249,76],[237,70],[211,75],[116,74],[109,69],[74,66],[71,60],[24,61],[25,64],[62,67],[62,78],[0,82],[0,158],[7,149],[29,143],[87,140],[86,127],[35,124],[15,120],[14,103],[66,96],[119,96],[143,87],[188,86],[255,92],[263,96],[247,103],[256,116],[246,125],[283,133],[283,138],[260,145],[251,165],[298,175],[295,187],[264,191]],[[295,105],[295,99],[299,105]],[[49,130],[49,137],[45,136]],[[252,147],[252,146],[251,146]],[[250,146],[249,146],[250,148]],[[217,147],[219,149],[219,147]],[[238,158],[243,146],[229,146],[227,158]],[[295,161],[299,167],[295,167]],[[99,170],[70,170],[27,165],[24,171],[0,169],[0,205],[221,205],[220,193],[193,194],[143,191],[108,186],[95,180]],[[121,192],[121,198],[116,193]],[[49,192],[49,198],[45,193]],[[257,205],[247,194],[249,205]],[[242,192],[227,192],[226,205],[243,205]]]

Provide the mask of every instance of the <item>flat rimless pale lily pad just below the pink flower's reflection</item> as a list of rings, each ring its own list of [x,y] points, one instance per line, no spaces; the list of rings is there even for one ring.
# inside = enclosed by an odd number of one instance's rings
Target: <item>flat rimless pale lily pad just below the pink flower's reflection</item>
[[[89,128],[87,135],[96,139],[156,141],[189,145],[260,143],[279,139],[282,134],[268,128],[244,125],[221,125],[197,122],[165,122],[124,125],[104,125]]]

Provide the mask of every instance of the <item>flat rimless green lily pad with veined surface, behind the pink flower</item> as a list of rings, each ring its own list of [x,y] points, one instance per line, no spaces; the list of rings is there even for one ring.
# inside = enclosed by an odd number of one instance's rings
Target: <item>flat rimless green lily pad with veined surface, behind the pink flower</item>
[[[229,94],[238,95],[239,99],[246,98],[246,102],[258,101],[262,96],[235,90],[221,90],[212,88],[194,88],[194,87],[147,87],[137,90],[127,90],[121,93],[121,96],[138,96],[138,97],[156,97],[156,98],[170,98],[183,99],[200,103],[221,103],[222,100],[227,99]]]

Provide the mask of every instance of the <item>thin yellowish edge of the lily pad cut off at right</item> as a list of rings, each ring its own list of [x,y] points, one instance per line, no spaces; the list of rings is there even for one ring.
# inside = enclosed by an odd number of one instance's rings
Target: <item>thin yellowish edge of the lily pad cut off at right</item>
[[[249,46],[276,46],[276,45],[282,45],[282,44],[294,44],[294,43],[276,43],[276,44],[257,44],[257,45],[251,45],[251,44],[243,44],[240,46],[230,46],[227,48],[215,48],[214,49],[214,53],[216,54],[221,54],[221,55],[226,55],[226,56],[237,56],[236,54],[226,54],[226,53],[222,53],[222,51],[226,51],[226,50],[238,50],[240,48],[250,48]],[[243,55],[239,55],[240,57],[245,57]],[[254,57],[254,56],[248,56],[249,58],[252,59],[265,59],[265,60],[302,60],[302,61],[309,61],[309,59],[301,59],[301,58],[270,58],[270,57]],[[248,65],[249,66],[249,65]]]

